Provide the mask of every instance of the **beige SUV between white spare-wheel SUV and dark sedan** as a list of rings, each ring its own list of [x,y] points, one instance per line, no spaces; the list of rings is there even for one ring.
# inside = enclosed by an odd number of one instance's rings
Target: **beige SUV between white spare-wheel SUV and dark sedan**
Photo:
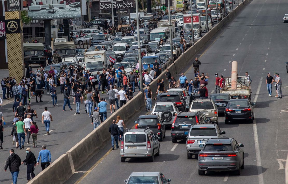
[[[209,98],[196,98],[192,100],[189,112],[197,111],[204,113],[211,122],[218,125],[218,110],[213,100]]]

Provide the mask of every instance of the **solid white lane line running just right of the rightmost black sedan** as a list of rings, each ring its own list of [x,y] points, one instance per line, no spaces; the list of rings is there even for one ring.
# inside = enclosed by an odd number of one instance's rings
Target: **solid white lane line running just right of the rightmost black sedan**
[[[263,77],[260,78],[260,82],[258,84],[258,88],[257,88],[257,91],[256,91],[254,102],[257,102],[257,98],[259,96],[262,80],[263,80]],[[259,148],[259,140],[258,140],[258,131],[257,131],[257,124],[256,124],[256,117],[255,117],[255,120],[254,120],[254,123],[253,123],[253,135],[254,135],[254,143],[255,143],[255,151],[256,151],[256,161],[257,161],[257,166],[258,166],[257,167],[258,180],[259,180],[259,184],[264,184],[263,174],[262,174],[263,172],[262,172],[260,148]]]

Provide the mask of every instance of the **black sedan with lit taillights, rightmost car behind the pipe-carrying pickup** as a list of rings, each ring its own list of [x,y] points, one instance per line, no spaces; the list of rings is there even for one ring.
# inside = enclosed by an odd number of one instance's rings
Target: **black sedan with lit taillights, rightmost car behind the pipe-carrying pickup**
[[[231,120],[243,119],[253,123],[255,119],[254,106],[255,103],[251,103],[246,98],[229,100],[224,113],[225,124],[228,124]]]

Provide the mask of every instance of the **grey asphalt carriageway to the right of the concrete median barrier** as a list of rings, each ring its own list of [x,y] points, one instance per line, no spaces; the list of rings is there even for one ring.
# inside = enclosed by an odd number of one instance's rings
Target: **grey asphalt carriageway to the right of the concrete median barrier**
[[[288,114],[281,110],[287,110],[288,92],[285,68],[288,24],[282,22],[286,7],[287,2],[283,0],[251,1],[197,55],[202,63],[200,72],[210,76],[209,94],[214,90],[215,73],[231,76],[232,61],[238,61],[238,75],[245,75],[247,71],[252,78],[251,102],[256,103],[254,123],[235,121],[226,125],[223,117],[219,119],[219,126],[226,131],[226,136],[245,145],[245,168],[240,176],[229,172],[208,172],[199,176],[197,160],[186,158],[185,141],[173,144],[167,129],[166,138],[160,142],[160,156],[155,157],[154,162],[132,158],[122,163],[120,150],[111,150],[111,145],[107,144],[66,183],[124,183],[132,172],[139,171],[161,171],[172,180],[171,183],[285,183]],[[188,79],[194,79],[191,65],[182,71]],[[272,97],[268,96],[265,84],[268,72],[280,74],[283,99],[275,99],[275,90]],[[125,122],[128,127],[132,127],[137,117]]]

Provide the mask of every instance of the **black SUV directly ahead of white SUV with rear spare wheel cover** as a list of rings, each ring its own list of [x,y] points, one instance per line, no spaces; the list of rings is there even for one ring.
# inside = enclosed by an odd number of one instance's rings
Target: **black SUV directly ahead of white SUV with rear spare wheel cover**
[[[158,95],[156,102],[175,102],[180,111],[186,112],[186,102],[183,96],[178,92],[164,92]],[[189,108],[189,107],[188,107]]]

